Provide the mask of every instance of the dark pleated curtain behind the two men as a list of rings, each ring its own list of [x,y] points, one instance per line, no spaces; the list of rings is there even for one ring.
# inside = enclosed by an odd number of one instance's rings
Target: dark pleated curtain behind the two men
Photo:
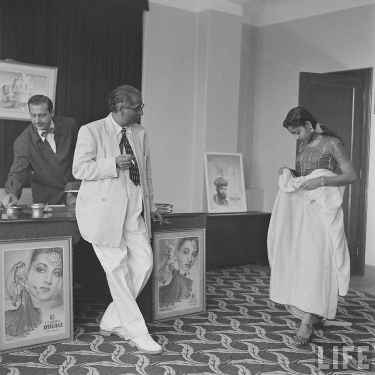
[[[147,9],[147,0],[0,0],[0,59],[56,66],[55,114],[80,126],[108,114],[114,87],[141,88]],[[0,119],[1,187],[28,124]]]

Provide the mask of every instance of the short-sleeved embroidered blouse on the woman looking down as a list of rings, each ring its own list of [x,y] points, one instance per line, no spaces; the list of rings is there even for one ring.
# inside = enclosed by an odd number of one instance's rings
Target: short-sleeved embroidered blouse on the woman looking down
[[[322,135],[320,141],[310,146],[300,142],[296,157],[296,171],[301,176],[310,174],[318,168],[335,172],[337,167],[350,161],[342,141],[331,135]]]

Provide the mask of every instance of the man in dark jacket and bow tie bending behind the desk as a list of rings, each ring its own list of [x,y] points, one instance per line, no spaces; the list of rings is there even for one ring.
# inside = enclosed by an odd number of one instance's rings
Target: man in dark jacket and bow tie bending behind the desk
[[[15,204],[30,182],[34,203],[64,204],[65,184],[72,181],[71,166],[77,126],[71,117],[54,116],[52,101],[44,95],[29,98],[31,123],[14,141],[14,161],[5,182],[2,204]]]

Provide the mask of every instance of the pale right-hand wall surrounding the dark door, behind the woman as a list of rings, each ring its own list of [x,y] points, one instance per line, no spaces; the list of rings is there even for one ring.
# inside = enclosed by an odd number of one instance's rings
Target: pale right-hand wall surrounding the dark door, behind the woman
[[[257,29],[251,187],[272,209],[277,170],[294,165],[295,140],[282,127],[298,102],[300,71],[328,72],[375,65],[375,5],[315,15]],[[373,100],[372,100],[373,102]],[[371,119],[371,128],[375,118]],[[366,264],[375,264],[375,137],[370,140]]]

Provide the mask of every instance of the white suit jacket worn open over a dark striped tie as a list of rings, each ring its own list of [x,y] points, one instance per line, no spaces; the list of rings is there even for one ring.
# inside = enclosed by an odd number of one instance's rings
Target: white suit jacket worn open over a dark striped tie
[[[143,213],[151,237],[150,212],[153,202],[151,163],[146,130],[138,124],[131,128],[134,155],[138,163]],[[110,114],[81,126],[73,157],[72,173],[81,179],[75,214],[81,236],[88,242],[118,247],[126,212],[125,186],[118,178],[115,157],[120,154]]]

